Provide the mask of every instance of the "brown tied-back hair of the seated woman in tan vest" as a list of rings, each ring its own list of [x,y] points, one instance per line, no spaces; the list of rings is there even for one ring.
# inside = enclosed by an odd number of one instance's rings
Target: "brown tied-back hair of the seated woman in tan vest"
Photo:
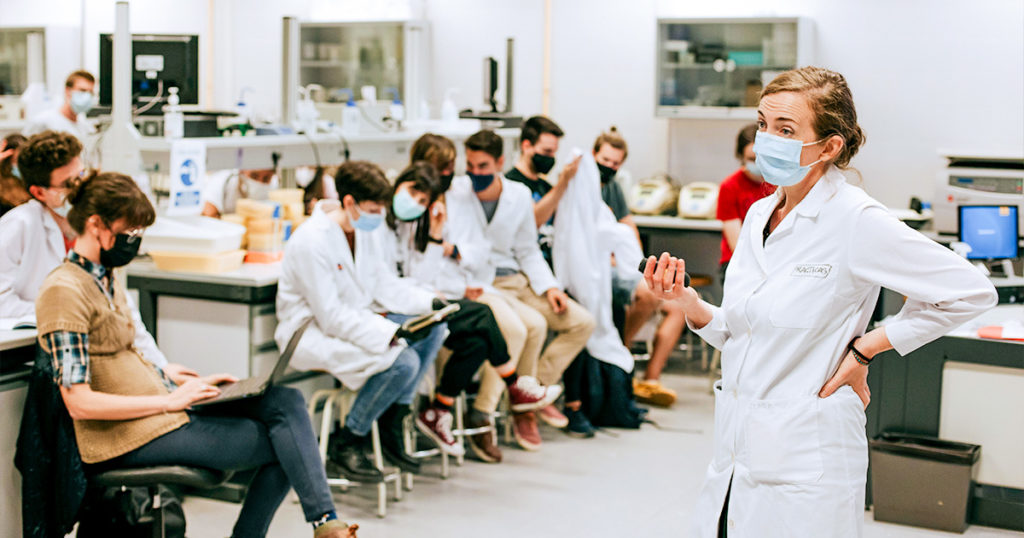
[[[79,234],[85,221],[96,215],[108,227],[124,219],[128,230],[146,227],[157,219],[157,211],[131,177],[118,172],[93,171],[84,178],[70,181],[68,223]]]

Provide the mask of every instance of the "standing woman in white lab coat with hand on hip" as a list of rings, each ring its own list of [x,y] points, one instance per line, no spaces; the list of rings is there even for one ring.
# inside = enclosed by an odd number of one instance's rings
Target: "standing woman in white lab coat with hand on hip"
[[[695,535],[857,537],[867,364],[968,322],[995,304],[995,291],[966,260],[846,182],[840,170],[864,136],[842,75],[783,73],[762,93],[758,125],[758,167],[780,189],[751,208],[722,305],[684,288],[685,264],[667,253],[644,275],[722,350],[714,459]],[[865,334],[880,287],[907,302]]]

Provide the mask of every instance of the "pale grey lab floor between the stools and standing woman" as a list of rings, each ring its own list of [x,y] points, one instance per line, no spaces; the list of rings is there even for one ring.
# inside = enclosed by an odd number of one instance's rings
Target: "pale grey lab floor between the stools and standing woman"
[[[402,501],[388,503],[386,518],[375,515],[376,489],[369,488],[337,494],[339,514],[358,523],[364,538],[687,536],[711,458],[713,402],[706,374],[680,370],[677,365],[675,373],[663,376],[679,391],[679,402],[650,413],[660,429],[645,424],[639,431],[611,430],[577,440],[542,425],[540,452],[503,447],[503,463],[467,459],[462,467],[453,465],[447,480],[439,478],[439,463],[430,463]],[[239,506],[188,498],[184,510],[190,538],[223,538],[230,534]],[[278,511],[269,536],[311,535],[292,495]],[[864,536],[955,535],[876,523],[865,512]],[[964,536],[1021,533],[975,526]]]

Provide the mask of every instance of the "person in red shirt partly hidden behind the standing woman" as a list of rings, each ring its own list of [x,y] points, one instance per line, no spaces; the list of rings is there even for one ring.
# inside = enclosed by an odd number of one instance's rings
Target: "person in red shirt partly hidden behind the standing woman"
[[[758,125],[752,123],[739,130],[736,136],[736,159],[740,168],[726,177],[718,191],[718,211],[715,217],[722,221],[722,282],[725,282],[725,270],[729,266],[732,251],[739,240],[739,229],[746,217],[746,210],[754,202],[775,192],[775,185],[766,183],[758,170],[754,155],[754,136]]]

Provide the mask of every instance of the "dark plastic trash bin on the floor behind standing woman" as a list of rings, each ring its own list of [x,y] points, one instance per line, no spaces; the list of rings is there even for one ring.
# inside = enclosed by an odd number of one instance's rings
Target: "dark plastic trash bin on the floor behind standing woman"
[[[981,446],[887,432],[870,448],[876,521],[967,530]]]

